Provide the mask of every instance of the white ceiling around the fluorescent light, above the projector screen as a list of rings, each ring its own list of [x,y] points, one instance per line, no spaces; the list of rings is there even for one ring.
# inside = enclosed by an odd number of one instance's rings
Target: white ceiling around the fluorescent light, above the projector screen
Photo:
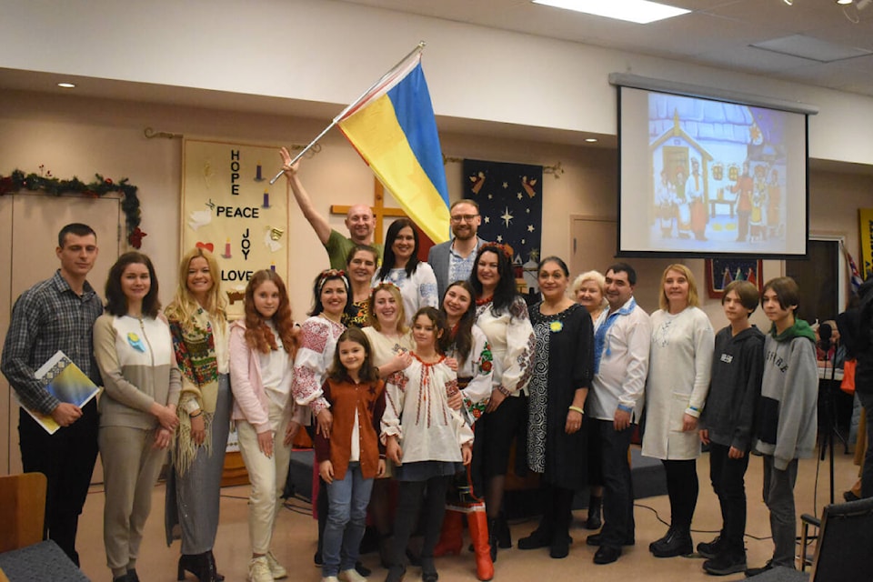
[[[691,13],[637,25],[530,0],[343,1],[873,96],[873,5],[858,11],[835,0],[794,0],[791,6],[783,0],[660,0]],[[870,54],[821,63],[752,46],[788,35]]]

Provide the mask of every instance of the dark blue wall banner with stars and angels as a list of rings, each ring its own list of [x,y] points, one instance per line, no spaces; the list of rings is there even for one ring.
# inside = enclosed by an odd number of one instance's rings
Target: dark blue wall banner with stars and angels
[[[543,166],[464,160],[464,197],[479,205],[479,236],[512,246],[517,276],[521,268],[536,269],[543,226]]]

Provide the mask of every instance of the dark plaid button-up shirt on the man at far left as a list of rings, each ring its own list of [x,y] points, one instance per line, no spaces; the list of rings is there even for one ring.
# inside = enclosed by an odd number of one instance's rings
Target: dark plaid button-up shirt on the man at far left
[[[60,269],[18,297],[0,368],[22,404],[46,415],[60,404],[34,375],[57,350],[101,386],[92,336],[94,322],[102,314],[103,303],[94,288],[85,281],[83,294],[76,295]]]

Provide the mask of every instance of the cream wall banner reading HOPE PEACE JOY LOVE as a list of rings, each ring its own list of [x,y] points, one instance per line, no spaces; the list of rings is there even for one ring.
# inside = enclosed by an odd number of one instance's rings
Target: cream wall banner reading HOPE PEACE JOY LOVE
[[[183,146],[181,251],[203,246],[215,254],[234,318],[243,315],[246,284],[256,271],[272,268],[287,281],[285,180],[270,186],[264,176],[265,167],[278,164],[277,152],[278,146],[196,139]]]

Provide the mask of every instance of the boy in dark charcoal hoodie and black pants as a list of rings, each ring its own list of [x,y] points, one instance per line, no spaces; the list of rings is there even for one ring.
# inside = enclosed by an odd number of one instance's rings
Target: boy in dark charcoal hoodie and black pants
[[[764,334],[748,321],[758,307],[758,286],[734,281],[721,298],[729,326],[716,334],[707,406],[700,416],[700,440],[709,445],[709,478],[721,506],[722,527],[708,543],[703,569],[726,576],[746,569],[746,469],[755,410],[761,396]]]

